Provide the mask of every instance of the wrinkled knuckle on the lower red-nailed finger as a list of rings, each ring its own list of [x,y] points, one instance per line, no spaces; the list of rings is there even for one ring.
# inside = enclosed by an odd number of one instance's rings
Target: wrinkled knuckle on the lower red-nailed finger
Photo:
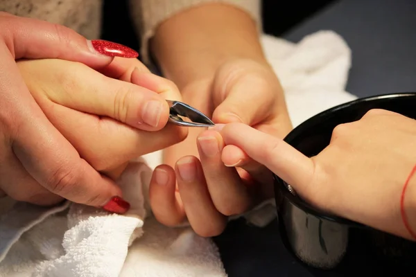
[[[66,194],[77,184],[82,172],[76,172],[73,166],[64,164],[57,168],[46,182],[46,186],[57,195]]]

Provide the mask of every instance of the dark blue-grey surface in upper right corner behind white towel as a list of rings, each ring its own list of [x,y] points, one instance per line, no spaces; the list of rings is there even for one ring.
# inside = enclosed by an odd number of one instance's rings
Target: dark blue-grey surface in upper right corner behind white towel
[[[356,96],[416,90],[416,1],[341,0],[284,37],[334,30],[352,49],[347,91]]]

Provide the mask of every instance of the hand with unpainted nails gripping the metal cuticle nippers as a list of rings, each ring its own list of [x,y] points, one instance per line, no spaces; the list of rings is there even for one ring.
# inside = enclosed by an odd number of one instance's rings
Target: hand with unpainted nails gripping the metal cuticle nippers
[[[187,128],[164,127],[168,119],[164,98],[180,100],[179,91],[171,81],[150,73],[139,60],[116,57],[101,69],[105,75],[65,60],[24,60],[17,66],[46,118],[82,159],[111,179],[119,177],[130,159],[182,141],[187,135]],[[137,129],[143,124],[139,120],[142,107],[150,100],[162,102],[157,132]],[[2,189],[10,197],[36,204],[60,200],[55,191],[35,182],[10,182]],[[82,186],[67,189],[71,190],[65,191],[68,195],[73,190],[94,193]]]

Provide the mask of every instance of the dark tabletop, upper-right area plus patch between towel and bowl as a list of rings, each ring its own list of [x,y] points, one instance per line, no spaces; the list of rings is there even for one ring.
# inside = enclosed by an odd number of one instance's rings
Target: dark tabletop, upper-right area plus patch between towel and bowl
[[[359,97],[416,91],[416,1],[337,1],[284,37],[297,42],[318,30],[336,31],[352,48],[347,91]],[[238,220],[215,241],[229,277],[343,276],[304,267],[284,247],[276,221],[258,229]]]

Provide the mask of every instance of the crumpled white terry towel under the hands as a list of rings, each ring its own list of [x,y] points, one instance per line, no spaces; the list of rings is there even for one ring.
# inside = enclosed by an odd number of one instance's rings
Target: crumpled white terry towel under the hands
[[[293,44],[263,35],[263,48],[286,93],[293,125],[356,97],[345,91],[351,53],[343,38],[320,31]],[[160,151],[132,161],[117,181],[132,208],[114,215],[66,202],[41,208],[0,200],[0,276],[227,276],[216,245],[189,226],[152,217],[148,184]],[[274,201],[245,215],[265,226]]]

